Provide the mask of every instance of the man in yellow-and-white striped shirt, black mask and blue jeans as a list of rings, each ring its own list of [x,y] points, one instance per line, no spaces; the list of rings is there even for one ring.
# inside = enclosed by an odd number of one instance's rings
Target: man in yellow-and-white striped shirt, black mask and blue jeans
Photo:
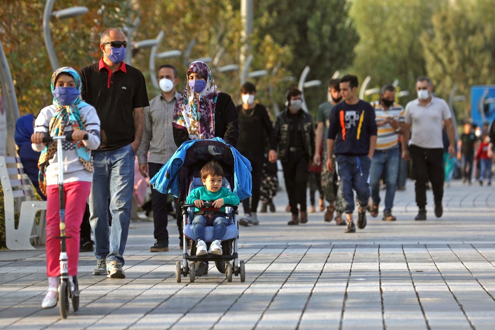
[[[380,179],[385,171],[387,192],[382,219],[384,221],[396,220],[396,217],[392,215],[392,207],[394,206],[400,160],[398,135],[402,134],[401,127],[404,123],[405,112],[404,108],[395,102],[395,99],[396,88],[392,85],[385,85],[382,87],[380,100],[371,103],[375,109],[378,138],[370,169],[372,204],[368,206],[368,210],[373,217],[378,216]]]

